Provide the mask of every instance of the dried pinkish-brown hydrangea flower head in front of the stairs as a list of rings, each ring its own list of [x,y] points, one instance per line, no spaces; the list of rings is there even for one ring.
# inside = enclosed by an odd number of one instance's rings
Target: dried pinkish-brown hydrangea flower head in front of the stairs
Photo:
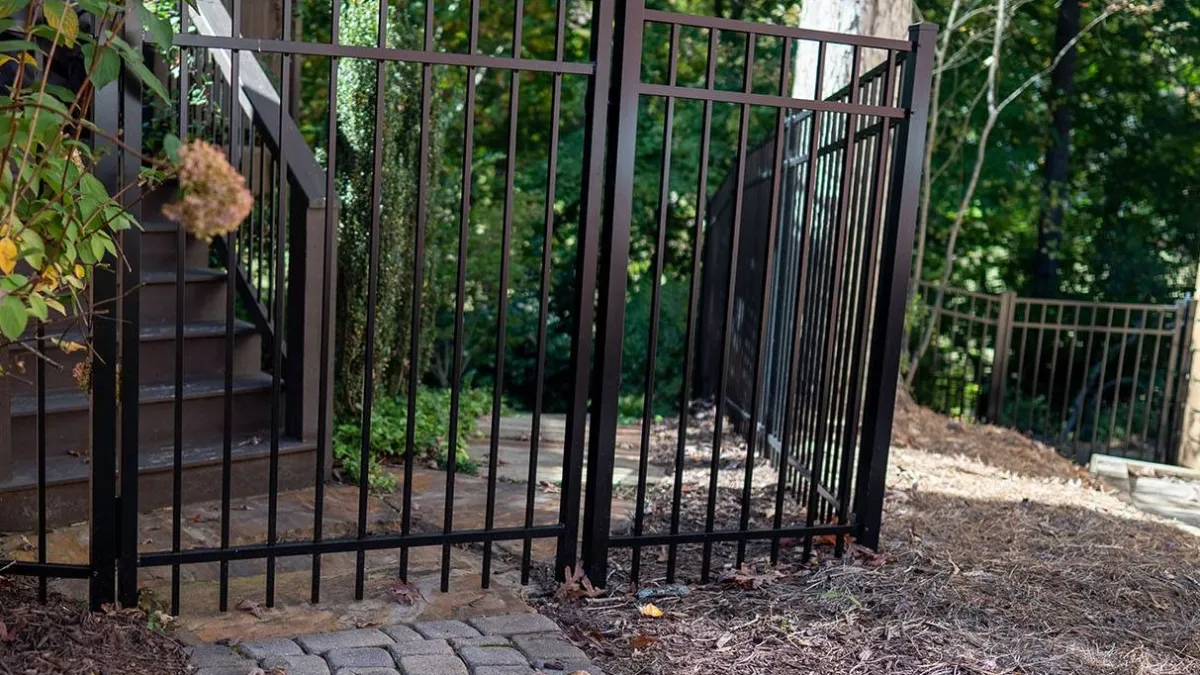
[[[238,229],[254,207],[246,178],[220,148],[203,141],[180,147],[179,187],[180,197],[162,211],[205,241]]]

